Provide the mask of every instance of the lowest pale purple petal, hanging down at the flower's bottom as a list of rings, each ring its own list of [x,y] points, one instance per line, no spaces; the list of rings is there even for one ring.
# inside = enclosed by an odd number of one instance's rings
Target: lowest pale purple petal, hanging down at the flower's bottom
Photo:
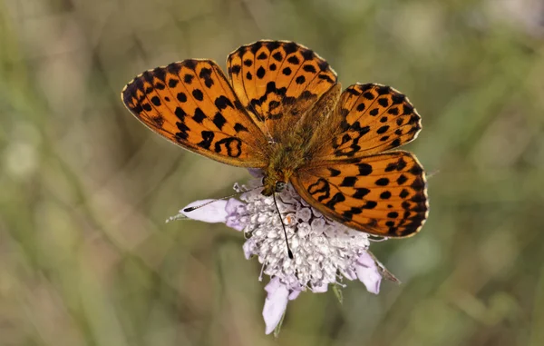
[[[268,282],[265,291],[268,294],[263,308],[263,318],[267,325],[266,333],[269,334],[276,329],[277,323],[281,321],[287,309],[289,290],[278,278],[273,278]]]

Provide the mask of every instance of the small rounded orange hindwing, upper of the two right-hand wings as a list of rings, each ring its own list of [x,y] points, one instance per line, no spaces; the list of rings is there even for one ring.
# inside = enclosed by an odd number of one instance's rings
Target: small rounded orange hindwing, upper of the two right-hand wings
[[[322,146],[328,160],[381,153],[411,142],[421,117],[406,96],[380,84],[354,84],[345,89],[335,109],[337,133]]]

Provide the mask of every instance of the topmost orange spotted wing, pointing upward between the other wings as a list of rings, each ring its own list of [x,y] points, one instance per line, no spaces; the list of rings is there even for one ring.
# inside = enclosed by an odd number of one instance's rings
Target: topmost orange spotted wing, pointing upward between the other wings
[[[335,71],[294,42],[258,41],[228,55],[228,75],[240,102],[275,142],[336,84]]]

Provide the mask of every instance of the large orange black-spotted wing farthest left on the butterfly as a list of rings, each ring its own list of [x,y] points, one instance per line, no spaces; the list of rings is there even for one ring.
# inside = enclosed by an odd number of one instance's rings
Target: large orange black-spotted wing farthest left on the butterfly
[[[235,166],[266,165],[265,136],[213,61],[146,71],[125,86],[121,99],[143,124],[191,152]]]

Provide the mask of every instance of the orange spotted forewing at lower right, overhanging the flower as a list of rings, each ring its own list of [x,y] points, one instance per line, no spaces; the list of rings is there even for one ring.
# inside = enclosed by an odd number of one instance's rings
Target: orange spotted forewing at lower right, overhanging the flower
[[[300,169],[291,183],[321,213],[374,235],[409,236],[427,218],[425,176],[412,153],[323,162]]]

